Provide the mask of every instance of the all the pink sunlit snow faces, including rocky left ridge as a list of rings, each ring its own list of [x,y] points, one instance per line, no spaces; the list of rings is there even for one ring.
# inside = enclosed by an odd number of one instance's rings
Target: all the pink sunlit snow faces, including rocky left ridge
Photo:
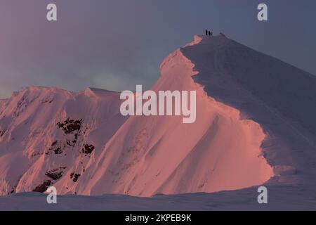
[[[268,181],[274,172],[261,149],[263,127],[195,82],[199,71],[183,51],[200,44],[195,37],[164,59],[151,95],[187,91],[187,105],[173,101],[164,116],[121,115],[119,93],[91,88],[31,87],[0,101],[1,195],[48,186],[80,195],[210,193]]]

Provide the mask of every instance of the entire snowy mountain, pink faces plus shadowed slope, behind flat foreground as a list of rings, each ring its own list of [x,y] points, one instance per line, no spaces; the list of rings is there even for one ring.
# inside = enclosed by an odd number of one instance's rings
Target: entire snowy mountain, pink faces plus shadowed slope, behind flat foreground
[[[153,91],[197,91],[195,123],[122,117],[119,94],[100,89],[31,87],[1,100],[0,193],[152,196],[312,180],[315,77],[223,35],[196,36],[160,70]]]

